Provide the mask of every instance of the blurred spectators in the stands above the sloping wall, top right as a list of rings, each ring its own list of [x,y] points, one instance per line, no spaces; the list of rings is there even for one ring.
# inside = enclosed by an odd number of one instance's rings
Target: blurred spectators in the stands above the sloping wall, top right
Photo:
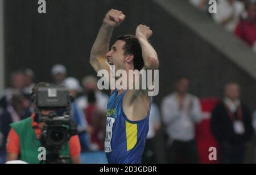
[[[256,1],[217,0],[217,13],[209,14],[209,0],[189,0],[189,2],[211,16],[226,31],[234,33],[256,53]]]

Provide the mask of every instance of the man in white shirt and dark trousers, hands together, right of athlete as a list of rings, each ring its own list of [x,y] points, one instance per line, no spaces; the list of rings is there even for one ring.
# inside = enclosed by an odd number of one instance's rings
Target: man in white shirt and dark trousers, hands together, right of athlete
[[[195,142],[195,123],[203,118],[199,99],[188,93],[189,81],[180,78],[176,92],[163,99],[162,115],[168,135],[168,163],[177,163],[183,157],[185,163],[199,163]]]

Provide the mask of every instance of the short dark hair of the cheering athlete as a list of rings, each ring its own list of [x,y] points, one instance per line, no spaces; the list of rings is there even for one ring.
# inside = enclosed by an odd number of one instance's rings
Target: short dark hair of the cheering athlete
[[[142,49],[141,44],[139,44],[139,41],[136,36],[134,35],[121,35],[117,38],[117,40],[125,41],[125,45],[123,46],[123,50],[125,51],[124,54],[133,54],[133,65],[134,69],[142,70],[144,66],[144,61],[142,57]]]

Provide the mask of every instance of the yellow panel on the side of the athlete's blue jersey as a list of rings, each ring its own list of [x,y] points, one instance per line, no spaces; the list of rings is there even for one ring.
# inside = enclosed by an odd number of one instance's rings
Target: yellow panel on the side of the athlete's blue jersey
[[[137,124],[129,123],[125,121],[125,130],[126,130],[126,142],[127,142],[127,151],[134,148],[137,143]]]

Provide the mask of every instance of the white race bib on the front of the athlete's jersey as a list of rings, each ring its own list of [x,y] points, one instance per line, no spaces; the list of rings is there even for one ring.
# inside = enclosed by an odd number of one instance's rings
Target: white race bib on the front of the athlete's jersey
[[[113,125],[115,119],[112,117],[107,117],[106,121],[106,138],[105,138],[105,152],[112,152],[111,139],[113,135]]]

